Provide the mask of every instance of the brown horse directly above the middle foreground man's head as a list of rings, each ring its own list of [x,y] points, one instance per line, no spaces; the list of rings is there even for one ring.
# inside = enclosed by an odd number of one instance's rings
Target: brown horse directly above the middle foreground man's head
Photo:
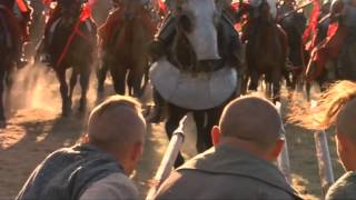
[[[243,30],[243,39],[247,40],[247,73],[243,88],[247,89],[250,78],[249,90],[257,90],[259,79],[264,74],[269,89],[273,87],[271,99],[275,102],[279,100],[280,80],[287,54],[287,38],[276,24],[269,10],[266,0],[263,0],[258,7],[258,17],[253,16],[254,10],[246,10],[248,21]]]

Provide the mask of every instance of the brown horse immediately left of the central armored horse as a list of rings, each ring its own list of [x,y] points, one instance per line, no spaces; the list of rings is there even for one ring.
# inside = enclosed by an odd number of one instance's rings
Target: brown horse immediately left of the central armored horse
[[[125,94],[128,87],[130,96],[140,97],[148,82],[146,44],[154,39],[156,26],[140,1],[127,1],[119,9],[123,11],[119,16],[119,27],[113,29],[113,44],[103,63],[109,66],[117,93]]]

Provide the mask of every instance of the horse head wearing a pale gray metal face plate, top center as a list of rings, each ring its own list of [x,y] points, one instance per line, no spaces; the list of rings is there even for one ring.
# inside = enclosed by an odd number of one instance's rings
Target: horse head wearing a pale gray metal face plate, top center
[[[220,59],[217,31],[220,16],[215,0],[177,1],[177,32],[188,40],[197,61]]]

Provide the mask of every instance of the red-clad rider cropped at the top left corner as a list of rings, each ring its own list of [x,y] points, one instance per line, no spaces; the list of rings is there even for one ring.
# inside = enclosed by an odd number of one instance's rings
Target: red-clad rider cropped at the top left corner
[[[10,48],[14,51],[17,67],[22,68],[28,63],[23,53],[23,44],[29,41],[28,24],[31,20],[32,9],[23,0],[2,0],[0,1],[0,10],[3,10],[6,18],[9,19]]]

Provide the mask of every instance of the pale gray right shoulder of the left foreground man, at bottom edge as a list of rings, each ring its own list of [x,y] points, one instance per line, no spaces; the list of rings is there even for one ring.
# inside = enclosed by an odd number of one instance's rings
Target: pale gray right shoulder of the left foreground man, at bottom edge
[[[79,200],[93,199],[127,199],[138,200],[138,190],[132,181],[123,173],[112,173],[86,189]]]

